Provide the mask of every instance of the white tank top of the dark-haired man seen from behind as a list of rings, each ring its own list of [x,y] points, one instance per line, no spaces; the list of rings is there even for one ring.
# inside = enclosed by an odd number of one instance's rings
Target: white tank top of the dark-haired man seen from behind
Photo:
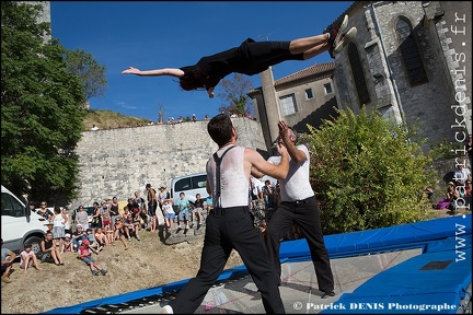
[[[217,151],[220,158],[232,145],[227,145]],[[217,166],[214,155],[207,161],[207,180],[210,184],[214,208],[230,208],[249,206],[250,178],[243,166],[245,148],[236,145],[226,153],[220,165],[220,200],[217,198]]]

